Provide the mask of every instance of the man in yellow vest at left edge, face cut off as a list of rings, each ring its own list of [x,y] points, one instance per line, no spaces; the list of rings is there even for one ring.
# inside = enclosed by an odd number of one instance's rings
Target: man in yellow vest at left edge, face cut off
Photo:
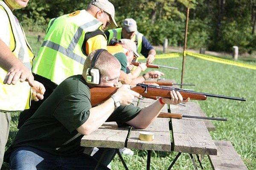
[[[32,49],[12,13],[26,7],[28,1],[0,0],[0,169],[9,135],[10,113],[28,109],[31,99],[44,98],[44,86],[34,81],[31,72]]]

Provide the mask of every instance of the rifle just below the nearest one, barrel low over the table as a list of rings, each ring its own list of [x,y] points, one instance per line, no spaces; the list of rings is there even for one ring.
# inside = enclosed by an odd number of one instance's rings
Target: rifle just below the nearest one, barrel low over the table
[[[176,119],[198,118],[198,119],[207,119],[207,120],[214,120],[214,121],[227,121],[227,118],[210,118],[210,117],[182,115],[179,113],[166,113],[166,112],[160,112],[160,114],[157,117],[158,118],[176,118]]]

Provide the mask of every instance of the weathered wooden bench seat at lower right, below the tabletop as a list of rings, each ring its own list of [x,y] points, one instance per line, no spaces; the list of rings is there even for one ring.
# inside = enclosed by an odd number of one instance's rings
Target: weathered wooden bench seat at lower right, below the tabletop
[[[213,170],[248,170],[230,141],[214,141],[217,156],[209,156]]]

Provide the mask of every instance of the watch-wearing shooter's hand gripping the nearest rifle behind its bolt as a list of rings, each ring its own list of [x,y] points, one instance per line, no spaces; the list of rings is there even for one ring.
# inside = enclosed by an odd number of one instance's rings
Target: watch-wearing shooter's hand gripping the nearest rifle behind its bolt
[[[122,85],[114,94],[120,101],[122,106],[130,105],[134,97],[141,98],[142,96],[131,90],[128,84]]]

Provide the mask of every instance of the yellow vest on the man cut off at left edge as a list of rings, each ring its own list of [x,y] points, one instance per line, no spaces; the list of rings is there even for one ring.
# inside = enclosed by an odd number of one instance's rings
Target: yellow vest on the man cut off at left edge
[[[0,10],[3,10],[6,13],[4,17],[8,18],[6,23],[1,23],[2,26],[9,27],[10,40],[6,45],[12,54],[31,70],[34,55],[20,23],[3,0],[0,0]],[[0,68],[0,110],[23,111],[29,109],[31,88],[28,82],[17,81],[15,85],[3,84],[6,74],[7,72]]]

